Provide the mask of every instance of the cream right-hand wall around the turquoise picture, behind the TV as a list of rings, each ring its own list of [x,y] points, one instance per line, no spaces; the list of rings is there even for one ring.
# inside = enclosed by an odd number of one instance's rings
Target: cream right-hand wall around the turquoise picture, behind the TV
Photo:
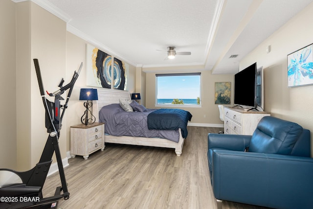
[[[251,51],[240,62],[240,70],[254,62],[263,66],[265,111],[311,130],[313,141],[313,85],[287,87],[287,55],[313,43],[312,11],[313,3]],[[266,53],[269,45],[271,51]]]

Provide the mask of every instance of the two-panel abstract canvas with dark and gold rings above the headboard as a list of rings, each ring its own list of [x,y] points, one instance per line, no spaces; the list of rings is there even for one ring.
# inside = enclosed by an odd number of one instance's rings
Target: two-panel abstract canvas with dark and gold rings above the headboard
[[[87,44],[86,86],[127,89],[129,65]]]

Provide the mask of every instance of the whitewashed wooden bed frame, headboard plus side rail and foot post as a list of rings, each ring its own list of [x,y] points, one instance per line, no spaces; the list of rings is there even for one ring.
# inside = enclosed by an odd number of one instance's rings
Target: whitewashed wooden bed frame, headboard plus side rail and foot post
[[[109,104],[118,104],[119,99],[131,99],[128,91],[112,90],[112,89],[97,89],[98,100],[93,101],[92,113],[96,117],[96,122],[99,121],[99,110]],[[167,147],[175,148],[177,156],[181,155],[182,146],[184,144],[184,138],[182,138],[181,130],[179,128],[179,142],[171,141],[161,138],[145,138],[145,137],[128,137],[128,136],[112,136],[105,135],[104,142],[118,143],[118,144],[132,144],[142,146],[155,146],[155,147]]]

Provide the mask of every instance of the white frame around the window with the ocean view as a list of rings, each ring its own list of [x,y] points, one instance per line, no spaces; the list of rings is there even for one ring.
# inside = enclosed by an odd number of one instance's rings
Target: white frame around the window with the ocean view
[[[157,77],[165,76],[189,76],[189,75],[199,75],[200,76],[200,89],[199,89],[199,94],[200,94],[200,104],[157,104]],[[201,108],[202,107],[202,102],[201,102],[201,90],[202,90],[202,76],[201,72],[182,72],[182,73],[157,73],[156,74],[156,94],[155,94],[155,106],[156,107],[192,107],[192,108]]]

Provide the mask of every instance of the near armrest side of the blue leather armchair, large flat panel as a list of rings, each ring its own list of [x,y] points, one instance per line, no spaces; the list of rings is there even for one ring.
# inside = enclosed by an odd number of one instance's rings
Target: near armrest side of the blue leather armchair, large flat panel
[[[313,159],[213,151],[212,185],[217,199],[269,208],[313,206]]]

